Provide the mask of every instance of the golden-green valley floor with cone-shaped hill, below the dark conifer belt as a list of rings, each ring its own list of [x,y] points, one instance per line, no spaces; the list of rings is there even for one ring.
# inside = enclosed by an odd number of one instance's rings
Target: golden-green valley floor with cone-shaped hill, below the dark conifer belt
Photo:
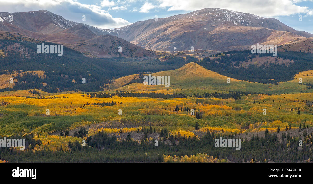
[[[14,150],[10,152],[1,148],[0,160],[310,161],[313,151],[310,134],[313,126],[313,89],[299,85],[299,78],[303,78],[303,83],[312,83],[311,72],[300,72],[293,80],[280,84],[232,78],[228,84],[226,76],[196,63],[188,63],[179,69],[153,74],[170,76],[169,88],[139,83],[138,77],[142,75],[137,74],[116,79],[108,86],[109,89],[96,93],[47,93],[38,89],[4,91],[0,93],[0,136],[27,137],[28,145],[26,151],[10,148]],[[128,97],[112,95],[114,92],[123,94],[122,91],[133,93],[129,93]],[[239,91],[239,98],[225,98],[226,95],[203,98],[204,93],[214,91],[220,95]],[[152,97],[135,97],[136,93],[149,92],[155,93],[150,94]],[[100,93],[107,95],[95,95]],[[165,95],[174,93],[185,97]],[[85,128],[84,132],[79,131],[80,128]],[[288,134],[285,142],[278,141],[275,135],[278,129]],[[299,133],[289,135],[290,130],[298,129]],[[265,130],[270,135],[254,138],[255,133]],[[211,144],[212,139],[218,136],[239,138],[243,135],[247,135],[245,140],[242,139],[243,152],[231,149],[221,151]],[[247,140],[250,135],[252,138]],[[296,142],[302,136],[306,147],[299,152],[296,151]],[[81,146],[83,141],[86,147]],[[159,141],[158,150],[153,145],[155,141]],[[255,148],[260,142],[268,146]],[[203,144],[211,146],[203,147]],[[286,145],[292,149],[286,149]],[[251,146],[255,148],[252,152]],[[278,148],[284,154],[275,155]],[[264,149],[267,151],[265,155]],[[85,153],[90,157],[82,159],[80,155]],[[51,158],[41,157],[40,154],[50,155]]]

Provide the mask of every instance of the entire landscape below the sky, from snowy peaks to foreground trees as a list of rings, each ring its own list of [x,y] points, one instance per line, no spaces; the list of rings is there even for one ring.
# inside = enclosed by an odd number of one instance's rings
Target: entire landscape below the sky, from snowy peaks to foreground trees
[[[0,162],[313,161],[311,33],[219,8],[114,29],[0,18],[0,138],[26,140]]]

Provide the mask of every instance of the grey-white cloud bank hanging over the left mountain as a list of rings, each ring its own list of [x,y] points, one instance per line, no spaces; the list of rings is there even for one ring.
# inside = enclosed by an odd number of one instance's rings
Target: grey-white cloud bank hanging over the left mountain
[[[75,22],[85,23],[98,28],[119,28],[130,23],[123,18],[113,18],[103,6],[113,6],[115,3],[104,0],[101,6],[83,4],[74,0],[0,0],[0,12],[27,12],[45,9]],[[118,6],[117,6],[118,7]],[[126,7],[118,7],[122,9]],[[82,21],[82,16],[86,21]]]

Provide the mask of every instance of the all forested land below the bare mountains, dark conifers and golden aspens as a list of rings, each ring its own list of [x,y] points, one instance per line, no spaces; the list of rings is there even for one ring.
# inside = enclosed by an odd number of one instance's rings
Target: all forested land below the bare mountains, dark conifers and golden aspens
[[[19,46],[10,50],[12,43]],[[36,44],[0,41],[0,77],[15,81],[0,89],[0,138],[26,139],[25,150],[0,147],[0,162],[313,161],[312,54],[279,52],[275,59],[293,62],[243,67],[271,56],[230,51],[161,62],[88,58],[64,47],[58,57],[35,54]],[[177,76],[167,89],[143,85],[153,72]],[[215,147],[220,136],[240,139],[241,149]]]

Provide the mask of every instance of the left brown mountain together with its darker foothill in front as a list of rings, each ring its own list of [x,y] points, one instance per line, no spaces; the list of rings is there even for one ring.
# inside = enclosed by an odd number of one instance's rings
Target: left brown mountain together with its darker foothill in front
[[[13,21],[10,21],[11,15]],[[19,33],[37,40],[63,44],[91,57],[155,57],[153,51],[142,49],[116,36],[99,36],[90,30],[95,29],[92,26],[71,22],[46,10],[0,13],[0,17],[0,35]],[[119,47],[122,48],[121,52]]]

